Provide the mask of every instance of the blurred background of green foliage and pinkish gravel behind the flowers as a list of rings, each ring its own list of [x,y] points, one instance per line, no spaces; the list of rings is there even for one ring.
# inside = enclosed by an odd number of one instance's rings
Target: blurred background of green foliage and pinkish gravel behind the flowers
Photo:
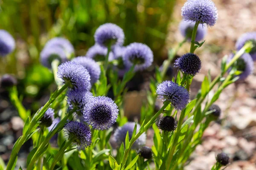
[[[17,77],[23,105],[34,112],[56,88],[51,71],[38,60],[47,40],[66,37],[74,45],[76,56],[82,56],[94,44],[96,28],[108,22],[124,30],[124,45],[131,42],[147,44],[154,52],[155,65],[160,66],[167,58],[168,50],[183,40],[178,25],[185,1],[0,0],[0,29],[9,31],[16,40],[15,51],[7,58],[0,58],[0,75],[9,73]],[[213,28],[208,28],[203,47],[196,51],[203,65],[192,84],[192,97],[209,69],[212,78],[220,72],[221,58],[235,49],[237,38],[245,32],[256,31],[255,0],[213,1],[219,18]],[[189,43],[183,45],[177,57],[186,52],[189,52]],[[169,77],[175,73],[172,69]],[[130,83],[132,91],[125,98],[127,116],[140,114],[138,103],[145,99],[143,90],[148,88],[151,74],[149,69]],[[220,150],[229,153],[235,161],[233,167],[226,170],[256,170],[255,77],[254,71],[245,82],[231,85],[221,94],[217,104],[222,109],[224,121],[207,129],[205,141],[192,156],[191,164],[186,167],[188,170],[207,170],[215,163],[215,153]],[[129,106],[134,103],[136,107],[131,110]],[[8,93],[0,89],[0,155],[4,161],[8,160],[13,143],[22,133],[23,122],[17,115],[9,103]],[[21,150],[24,159],[28,151],[29,148]]]

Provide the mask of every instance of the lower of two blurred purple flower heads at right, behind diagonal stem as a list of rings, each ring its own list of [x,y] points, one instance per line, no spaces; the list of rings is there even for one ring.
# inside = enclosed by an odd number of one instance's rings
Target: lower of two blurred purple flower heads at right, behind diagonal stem
[[[230,57],[227,59],[227,63],[231,61],[231,59],[234,57],[234,54],[231,54]],[[239,80],[246,79],[250,74],[253,74],[253,59],[248,53],[244,53],[237,59],[235,67],[237,71],[241,71],[241,74],[239,74]],[[228,71],[230,71],[229,69]]]

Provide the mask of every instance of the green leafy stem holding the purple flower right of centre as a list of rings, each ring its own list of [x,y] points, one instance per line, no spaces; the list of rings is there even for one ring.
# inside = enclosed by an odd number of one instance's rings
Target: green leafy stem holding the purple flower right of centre
[[[160,110],[150,119],[150,121],[148,121],[148,123],[143,127],[141,126],[140,127],[140,130],[139,132],[134,136],[134,138],[131,139],[130,141],[130,144],[129,144],[129,147],[128,149],[125,149],[125,153],[124,153],[124,156],[123,156],[123,159],[122,159],[122,169],[125,169],[125,163],[127,161],[127,158],[128,158],[128,153],[130,152],[131,150],[131,146],[134,144],[134,142],[140,137],[140,135],[142,135],[145,131],[148,130],[149,127],[151,127],[153,125],[153,123],[156,121],[157,117],[163,113],[163,110],[170,104],[169,101],[165,101],[163,103],[163,107],[160,108]],[[142,130],[143,129],[143,130]]]

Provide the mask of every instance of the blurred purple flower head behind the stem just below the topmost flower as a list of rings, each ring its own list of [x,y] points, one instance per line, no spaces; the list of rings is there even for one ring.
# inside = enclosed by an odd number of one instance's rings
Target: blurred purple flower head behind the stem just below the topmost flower
[[[195,22],[182,20],[180,22],[180,33],[183,37],[186,37],[188,41],[191,41],[192,32],[195,26]],[[207,28],[203,24],[199,24],[195,41],[201,41],[204,39],[205,35],[207,34]]]

